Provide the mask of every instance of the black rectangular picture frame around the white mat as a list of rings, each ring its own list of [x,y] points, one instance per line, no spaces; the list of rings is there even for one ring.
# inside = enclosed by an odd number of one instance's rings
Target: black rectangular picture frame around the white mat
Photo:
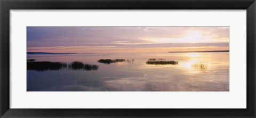
[[[0,0],[1,117],[255,117],[255,0]],[[186,9],[246,10],[246,109],[14,109],[10,108],[10,10]],[[238,22],[239,23],[239,22]],[[71,102],[71,101],[70,101]],[[234,103],[236,104],[236,103]]]

